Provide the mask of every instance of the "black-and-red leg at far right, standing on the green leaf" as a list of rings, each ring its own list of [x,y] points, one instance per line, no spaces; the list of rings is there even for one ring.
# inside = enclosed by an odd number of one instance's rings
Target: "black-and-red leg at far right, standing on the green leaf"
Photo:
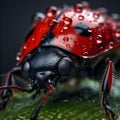
[[[103,76],[103,82],[102,82],[102,106],[105,109],[106,117],[109,120],[116,120],[117,116],[112,111],[110,107],[110,103],[108,101],[107,96],[110,94],[111,86],[112,86],[112,71],[113,71],[113,63],[111,60],[107,59],[106,61],[107,67]]]

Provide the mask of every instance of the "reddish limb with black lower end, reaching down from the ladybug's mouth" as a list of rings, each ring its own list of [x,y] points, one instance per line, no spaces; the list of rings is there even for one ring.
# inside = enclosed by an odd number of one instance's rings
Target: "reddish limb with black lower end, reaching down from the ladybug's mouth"
[[[48,97],[51,96],[55,92],[55,87],[53,85],[48,85],[47,87],[48,87],[48,91],[42,97],[41,104],[35,109],[35,111],[33,112],[30,120],[36,120],[37,119],[37,115],[38,115],[40,109],[45,105]]]

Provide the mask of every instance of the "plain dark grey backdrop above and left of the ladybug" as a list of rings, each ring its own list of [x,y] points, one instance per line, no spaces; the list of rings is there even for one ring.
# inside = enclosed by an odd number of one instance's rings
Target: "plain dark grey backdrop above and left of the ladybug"
[[[92,8],[105,7],[120,13],[120,0],[86,0]],[[28,32],[31,16],[48,6],[74,5],[81,0],[0,0],[0,73],[16,64],[16,53]]]

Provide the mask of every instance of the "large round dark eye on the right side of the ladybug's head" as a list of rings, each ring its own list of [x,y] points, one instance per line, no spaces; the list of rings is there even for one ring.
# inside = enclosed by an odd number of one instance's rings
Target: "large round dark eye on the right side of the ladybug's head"
[[[69,75],[72,72],[73,67],[73,61],[68,57],[62,58],[58,63],[58,71],[61,75]]]

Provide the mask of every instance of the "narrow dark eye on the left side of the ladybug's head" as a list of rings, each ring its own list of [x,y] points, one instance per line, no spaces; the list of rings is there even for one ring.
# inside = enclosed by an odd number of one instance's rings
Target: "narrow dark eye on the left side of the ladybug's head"
[[[25,62],[22,66],[22,74],[25,78],[29,78],[30,77],[30,63],[29,62]]]

